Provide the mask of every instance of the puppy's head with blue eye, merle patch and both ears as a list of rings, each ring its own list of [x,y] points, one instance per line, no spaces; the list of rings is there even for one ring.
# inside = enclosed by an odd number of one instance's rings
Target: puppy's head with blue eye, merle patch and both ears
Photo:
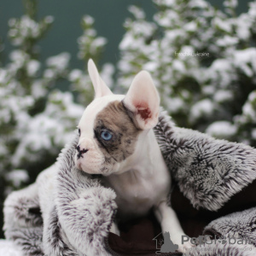
[[[75,164],[90,174],[109,175],[129,161],[139,135],[157,124],[160,98],[146,71],[137,74],[126,96],[113,95],[91,60],[88,71],[95,99],[79,122]]]

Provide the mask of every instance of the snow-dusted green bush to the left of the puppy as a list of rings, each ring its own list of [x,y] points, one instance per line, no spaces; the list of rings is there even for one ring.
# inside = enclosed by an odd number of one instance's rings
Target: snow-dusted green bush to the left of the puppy
[[[36,0],[26,0],[26,14],[9,20],[14,49],[9,63],[0,68],[2,196],[31,183],[38,172],[55,161],[93,96],[88,74],[69,67],[67,52],[49,56],[45,63],[40,61],[38,41],[49,31],[54,18],[37,20],[36,5]],[[82,20],[84,34],[79,38],[79,57],[97,61],[106,39],[96,35],[93,22],[90,16]],[[105,65],[102,72],[112,83],[113,67]],[[63,80],[71,82],[69,91],[56,89],[57,83],[61,88]],[[74,102],[72,90],[79,91],[83,106]]]

